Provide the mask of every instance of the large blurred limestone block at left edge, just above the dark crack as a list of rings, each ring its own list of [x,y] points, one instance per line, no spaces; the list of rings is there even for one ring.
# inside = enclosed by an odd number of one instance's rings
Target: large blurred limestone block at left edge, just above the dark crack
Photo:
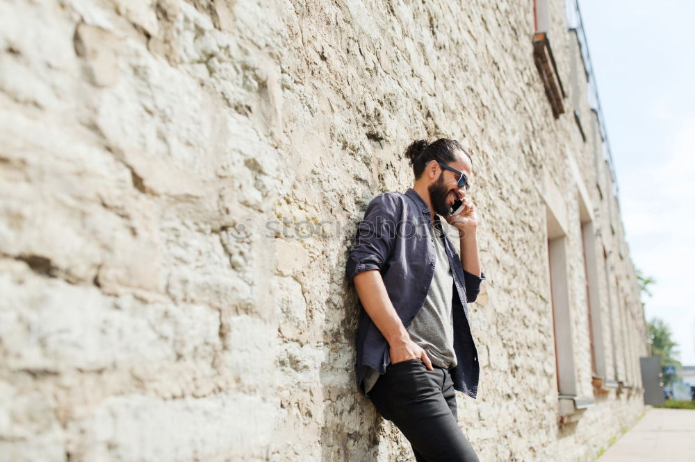
[[[42,185],[0,177],[3,253],[44,262],[38,271],[71,281],[158,289],[156,222],[147,201],[124,194],[132,185],[129,171],[108,153],[42,123],[17,116],[3,126],[12,135],[3,155]],[[32,126],[44,137],[32,137]]]

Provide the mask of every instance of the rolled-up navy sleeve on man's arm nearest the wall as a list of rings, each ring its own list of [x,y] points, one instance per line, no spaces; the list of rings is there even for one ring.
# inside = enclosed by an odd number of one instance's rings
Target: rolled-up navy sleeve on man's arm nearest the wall
[[[347,257],[345,274],[349,280],[363,271],[380,271],[384,267],[395,242],[398,212],[398,203],[389,194],[379,194],[371,200]]]

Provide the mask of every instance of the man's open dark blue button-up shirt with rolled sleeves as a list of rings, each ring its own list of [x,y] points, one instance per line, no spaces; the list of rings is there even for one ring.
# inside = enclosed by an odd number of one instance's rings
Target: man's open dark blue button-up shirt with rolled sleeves
[[[435,215],[434,219],[436,228],[441,230],[439,216]],[[369,203],[347,257],[346,273],[351,281],[362,271],[381,273],[386,292],[406,328],[425,304],[434,275],[434,241],[427,230],[431,225],[430,207],[414,189],[409,188],[405,194],[379,194]],[[475,397],[480,366],[467,302],[475,301],[485,275],[481,273],[479,277],[464,271],[451,241],[448,237],[444,241],[454,279],[452,321],[458,361],[450,374],[454,388]],[[383,374],[389,362],[389,343],[361,309],[357,328],[357,381],[362,393],[365,368]]]

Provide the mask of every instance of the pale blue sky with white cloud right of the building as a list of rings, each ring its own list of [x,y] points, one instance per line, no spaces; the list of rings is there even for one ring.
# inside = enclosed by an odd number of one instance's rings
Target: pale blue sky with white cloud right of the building
[[[695,365],[695,1],[579,0],[630,255]]]

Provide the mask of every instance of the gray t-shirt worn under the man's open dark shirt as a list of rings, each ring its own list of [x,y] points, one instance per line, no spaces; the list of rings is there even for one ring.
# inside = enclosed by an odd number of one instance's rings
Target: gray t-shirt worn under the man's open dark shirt
[[[434,276],[427,291],[425,305],[407,327],[410,338],[427,353],[432,365],[452,368],[457,364],[454,352],[454,326],[452,323],[451,298],[454,279],[449,259],[446,256],[443,233],[433,226],[429,227],[434,240]],[[367,368],[364,377],[366,394],[377,382],[379,373]]]

